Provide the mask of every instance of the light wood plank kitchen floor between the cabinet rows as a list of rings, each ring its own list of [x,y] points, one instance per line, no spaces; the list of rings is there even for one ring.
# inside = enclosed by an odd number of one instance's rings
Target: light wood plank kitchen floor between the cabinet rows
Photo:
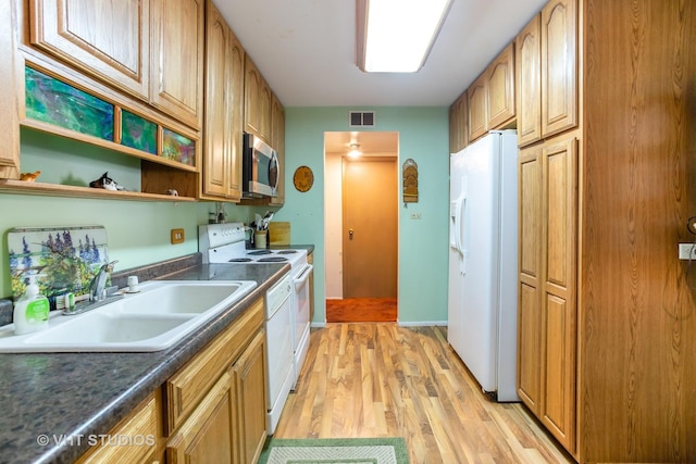
[[[274,437],[405,437],[412,464],[573,462],[521,404],[486,400],[445,327],[313,330]]]

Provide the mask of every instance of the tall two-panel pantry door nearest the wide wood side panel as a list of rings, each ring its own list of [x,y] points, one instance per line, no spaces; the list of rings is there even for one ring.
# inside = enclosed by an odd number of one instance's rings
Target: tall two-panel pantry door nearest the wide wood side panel
[[[575,446],[577,142],[543,151],[544,293],[540,418],[573,452]]]

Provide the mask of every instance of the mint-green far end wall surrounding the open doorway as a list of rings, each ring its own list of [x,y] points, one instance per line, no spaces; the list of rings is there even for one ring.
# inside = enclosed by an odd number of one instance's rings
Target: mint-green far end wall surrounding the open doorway
[[[447,240],[449,123],[447,108],[287,108],[286,204],[275,220],[291,223],[291,240],[313,243],[314,322],[325,319],[324,292],[324,133],[346,131],[348,112],[375,111],[377,131],[399,133],[399,166],[412,158],[419,166],[419,202],[402,209],[399,223],[399,322],[447,321]],[[314,186],[300,193],[291,177],[298,166],[314,172]],[[402,206],[402,203],[400,203]],[[411,220],[409,213],[422,213]]]

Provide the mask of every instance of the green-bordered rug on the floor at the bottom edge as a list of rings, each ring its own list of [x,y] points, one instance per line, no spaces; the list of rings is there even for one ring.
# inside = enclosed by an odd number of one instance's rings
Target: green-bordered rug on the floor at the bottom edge
[[[400,437],[270,438],[259,464],[409,464],[409,453]]]

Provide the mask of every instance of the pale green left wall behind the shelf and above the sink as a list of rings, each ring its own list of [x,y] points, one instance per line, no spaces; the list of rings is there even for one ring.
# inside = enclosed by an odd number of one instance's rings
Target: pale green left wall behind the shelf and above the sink
[[[128,189],[139,187],[139,163],[134,166],[133,158],[32,130],[22,131],[21,160],[22,172],[42,171],[39,181],[84,185],[109,171]],[[57,172],[62,174],[57,176]],[[198,225],[206,224],[208,213],[214,210],[214,202],[0,193],[0,298],[12,293],[7,236],[13,227],[102,225],[107,229],[109,258],[119,260],[116,271],[124,271],[197,252]],[[256,210],[226,203],[225,211],[231,222],[249,222]],[[184,243],[170,243],[172,228],[184,229]]]

